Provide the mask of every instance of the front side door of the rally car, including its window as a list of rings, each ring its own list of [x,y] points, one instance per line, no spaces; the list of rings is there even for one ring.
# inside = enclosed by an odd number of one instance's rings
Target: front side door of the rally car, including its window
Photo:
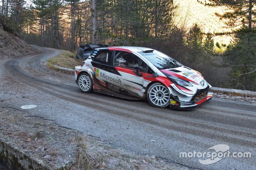
[[[121,63],[123,62],[123,63]],[[144,76],[147,74],[147,64],[138,56],[127,51],[115,51],[113,65],[121,74],[122,88],[132,96],[142,97]],[[136,74],[136,66],[142,67],[140,75]]]

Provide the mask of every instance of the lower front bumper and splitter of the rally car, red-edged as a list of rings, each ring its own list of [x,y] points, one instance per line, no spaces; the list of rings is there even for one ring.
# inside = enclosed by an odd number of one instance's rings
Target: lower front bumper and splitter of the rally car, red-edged
[[[191,110],[196,108],[198,105],[210,100],[212,93],[207,92],[207,96],[199,101],[180,101],[177,97],[171,94],[170,108],[179,110]]]

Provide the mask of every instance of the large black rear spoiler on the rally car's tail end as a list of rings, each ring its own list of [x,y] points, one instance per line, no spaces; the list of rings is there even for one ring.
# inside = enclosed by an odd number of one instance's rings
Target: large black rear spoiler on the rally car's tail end
[[[76,55],[77,59],[86,59],[88,58],[91,53],[93,53],[93,51],[95,49],[98,48],[103,48],[103,47],[108,47],[108,45],[103,45],[103,44],[84,44],[84,45],[80,45],[79,46],[79,50],[78,50],[78,54]]]

